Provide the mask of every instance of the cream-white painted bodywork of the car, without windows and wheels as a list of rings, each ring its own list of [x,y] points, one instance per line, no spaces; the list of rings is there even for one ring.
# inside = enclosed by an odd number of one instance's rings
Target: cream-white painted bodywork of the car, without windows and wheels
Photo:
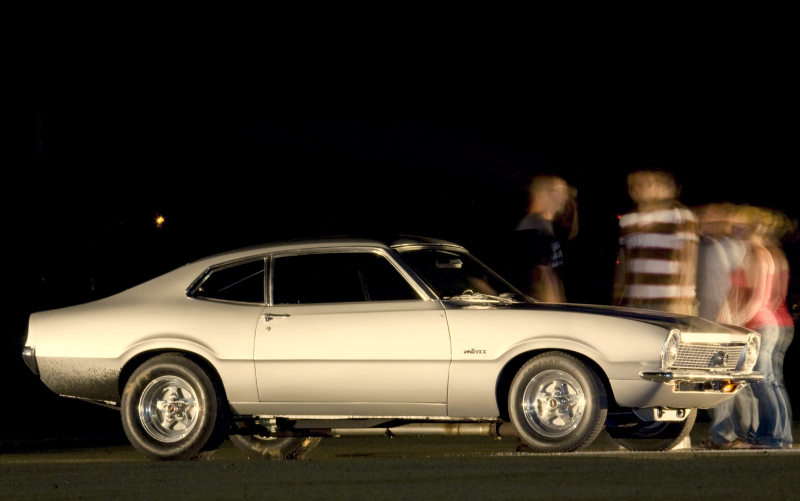
[[[449,243],[412,245],[466,252]],[[272,306],[187,296],[199,276],[221,263],[363,249],[389,256],[420,299]],[[276,316],[267,322],[265,314]],[[498,385],[508,364],[550,350],[590,360],[623,407],[707,408],[730,398],[676,392],[640,376],[661,369],[661,350],[676,326],[684,342],[746,344],[754,335],[653,312],[442,300],[391,247],[343,240],[212,256],[106,299],[34,313],[26,346],[53,391],[112,405],[135,364],[165,351],[191,354],[218,373],[239,415],[499,418],[505,410]]]

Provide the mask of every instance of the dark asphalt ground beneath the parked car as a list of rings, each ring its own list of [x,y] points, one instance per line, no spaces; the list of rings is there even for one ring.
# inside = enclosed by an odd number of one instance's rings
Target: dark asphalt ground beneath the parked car
[[[797,436],[798,423],[795,423]],[[603,432],[572,454],[516,439],[341,437],[306,459],[255,461],[226,442],[203,461],[154,462],[124,443],[0,448],[0,499],[797,499],[800,448],[622,451]]]

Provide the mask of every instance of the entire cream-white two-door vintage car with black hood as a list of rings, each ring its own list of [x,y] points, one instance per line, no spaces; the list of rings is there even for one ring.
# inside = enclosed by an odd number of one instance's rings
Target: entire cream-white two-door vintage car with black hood
[[[345,433],[516,434],[576,451],[606,427],[679,442],[757,381],[760,337],[696,317],[530,299],[439,240],[266,245],[31,315],[52,391],[118,407],[134,447],[194,458],[230,436],[297,457]]]

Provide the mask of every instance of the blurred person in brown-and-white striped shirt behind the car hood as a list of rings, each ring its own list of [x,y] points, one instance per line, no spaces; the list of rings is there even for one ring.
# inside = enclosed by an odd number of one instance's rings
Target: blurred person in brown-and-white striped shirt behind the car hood
[[[628,194],[635,210],[619,220],[614,304],[695,314],[697,217],[678,201],[668,172],[632,172]]]

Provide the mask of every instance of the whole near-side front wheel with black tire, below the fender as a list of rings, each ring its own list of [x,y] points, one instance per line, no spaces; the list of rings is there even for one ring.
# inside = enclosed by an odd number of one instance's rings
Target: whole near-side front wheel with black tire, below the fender
[[[508,392],[508,412],[532,452],[572,452],[597,438],[608,399],[592,368],[566,353],[547,352],[517,372]]]

